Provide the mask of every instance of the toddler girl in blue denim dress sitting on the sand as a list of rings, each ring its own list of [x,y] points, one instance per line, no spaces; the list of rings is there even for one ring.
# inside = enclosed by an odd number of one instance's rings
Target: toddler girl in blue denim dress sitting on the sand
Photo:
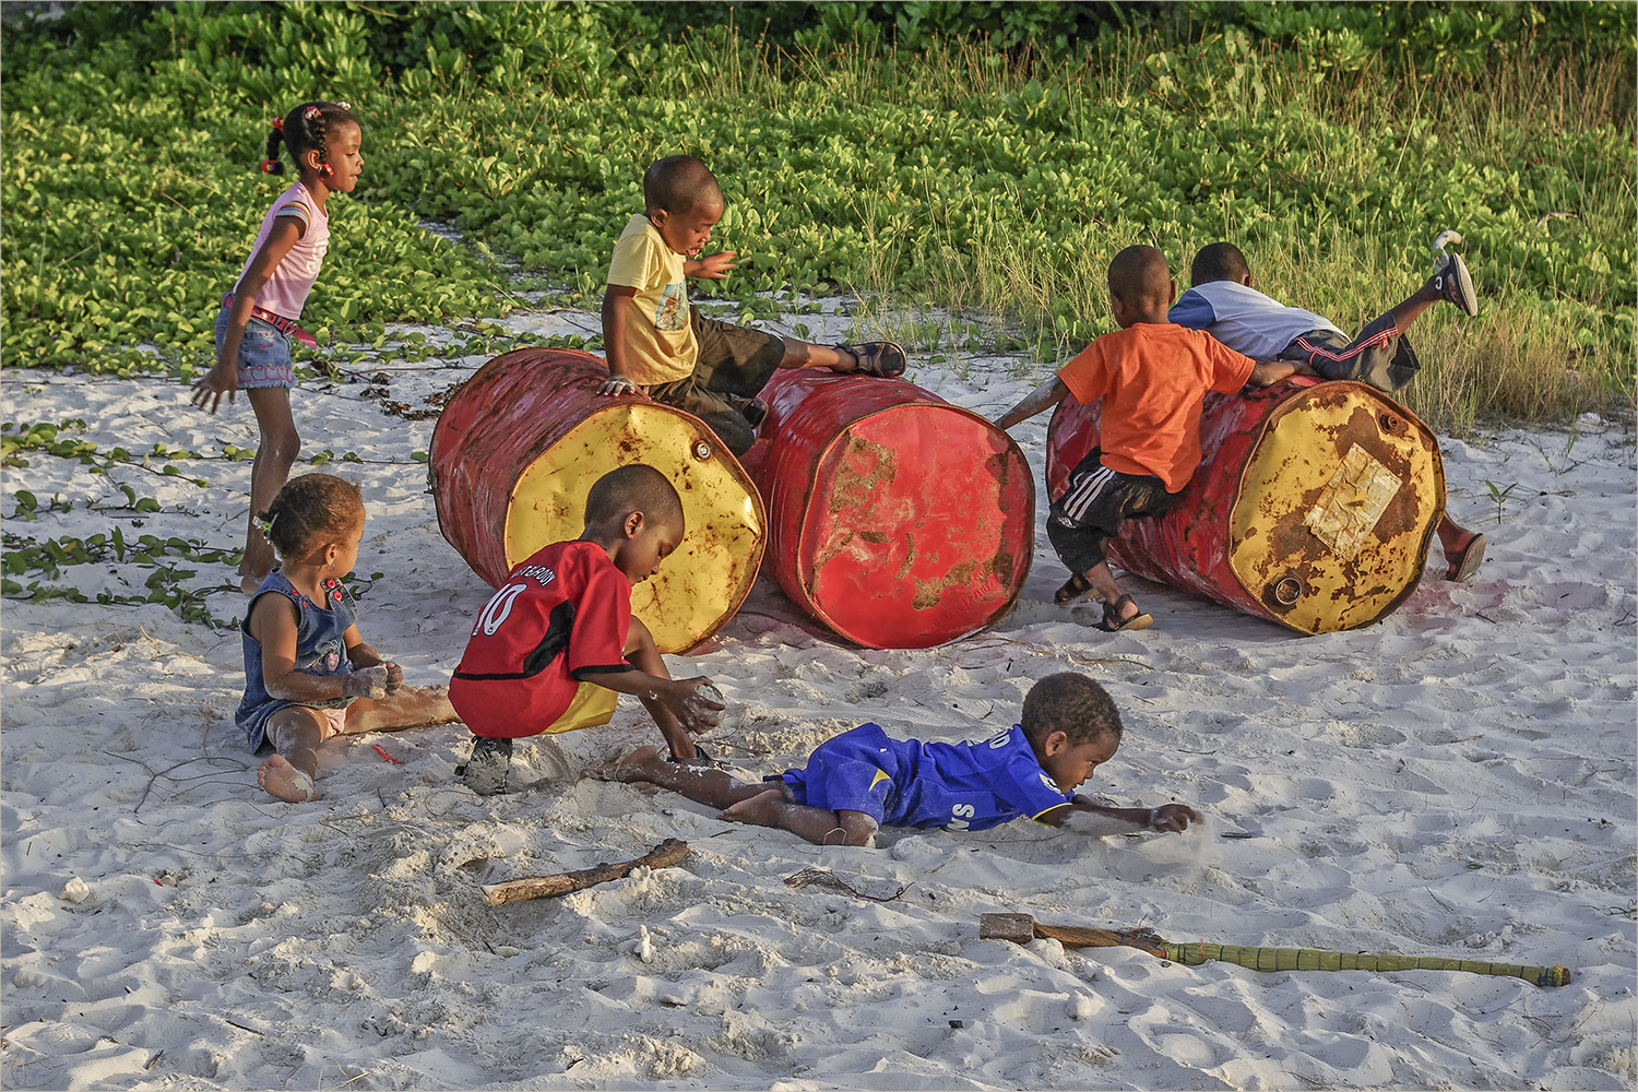
[[[251,750],[272,748],[256,771],[280,801],[319,799],[319,747],[337,735],[449,724],[442,686],[403,684],[396,663],[359,635],[359,607],[341,578],[359,560],[359,486],[311,473],[287,483],[264,526],[282,562],[251,598],[244,620],[244,701],[234,722]]]

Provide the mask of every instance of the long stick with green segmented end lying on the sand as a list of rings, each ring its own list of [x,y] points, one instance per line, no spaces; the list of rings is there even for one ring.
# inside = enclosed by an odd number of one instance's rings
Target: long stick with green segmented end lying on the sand
[[[1502,974],[1523,979],[1535,986],[1566,986],[1568,969],[1527,968],[1515,963],[1489,963],[1484,959],[1445,959],[1441,956],[1369,954],[1364,951],[1324,951],[1320,948],[1243,948],[1240,945],[1207,945],[1188,941],[1176,945],[1163,940],[1153,930],[1081,928],[1076,925],[1042,925],[1029,914],[984,914],[978,918],[978,935],[983,940],[1011,940],[1027,945],[1052,938],[1061,945],[1079,948],[1137,948],[1161,959],[1197,966],[1207,959],[1233,963],[1253,971],[1469,971],[1473,974]]]

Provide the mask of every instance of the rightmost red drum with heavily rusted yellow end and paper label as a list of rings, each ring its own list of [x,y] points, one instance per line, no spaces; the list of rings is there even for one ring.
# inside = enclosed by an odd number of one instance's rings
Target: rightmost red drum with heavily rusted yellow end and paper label
[[[1052,496],[1096,442],[1097,406],[1066,398],[1047,429]],[[1381,391],[1297,378],[1207,395],[1201,449],[1170,512],[1120,526],[1114,565],[1302,634],[1376,622],[1422,580],[1445,465]]]

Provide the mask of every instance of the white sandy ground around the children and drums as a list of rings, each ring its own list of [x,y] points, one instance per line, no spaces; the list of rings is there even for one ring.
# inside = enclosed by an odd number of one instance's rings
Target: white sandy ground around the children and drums
[[[480,363],[359,367],[424,408]],[[911,378],[996,416],[1038,375],[950,360]],[[490,588],[439,535],[413,458],[434,422],[388,416],[364,390],[298,388],[303,453],[329,449],[326,470],[364,490],[357,575],[383,573],[360,599],[365,639],[408,681],[447,681]],[[7,372],[3,398],[25,427],[84,419],[100,452],[208,457],[175,460],[180,475],[159,458],[92,473],[26,452],[3,473],[8,548],[115,526],[242,540],[249,462],[215,458],[256,444],[242,401],[213,419],[172,381],[33,372]],[[1037,475],[1045,427],[1014,431]],[[1019,822],[819,848],[580,781],[658,742],[631,699],[608,727],[521,742],[524,787],[508,796],[459,784],[468,737],[454,725],[362,737],[319,778],[321,802],[287,805],[257,789],[233,725],[236,630],[157,604],[7,601],[0,1087],[1631,1089],[1635,435],[1589,417],[1443,452],[1450,509],[1489,535],[1487,560],[1455,584],[1435,548],[1409,601],[1368,629],[1299,637],[1133,580],[1155,627],[1106,635],[1096,604],[1052,604],[1065,570],[1037,526],[1017,607],[968,640],[853,648],[765,573],[699,655],[670,658],[726,694],[704,742],[744,778],[865,720],[989,735],[1032,679],[1083,671],[1127,725],[1083,791],[1209,814],[1183,837]],[[124,504],[118,485],[162,511],[88,508]],[[52,496],[67,511],[46,511]],[[179,563],[193,586],[233,580]],[[95,599],[143,591],[151,571],[108,560],[54,583]],[[231,619],[244,598],[208,604]],[[691,845],[678,868],[503,907],[480,892],[667,837]],[[829,879],[788,882],[804,869]],[[980,940],[980,914],[999,910],[1174,941],[1563,964],[1574,981],[1258,972]]]

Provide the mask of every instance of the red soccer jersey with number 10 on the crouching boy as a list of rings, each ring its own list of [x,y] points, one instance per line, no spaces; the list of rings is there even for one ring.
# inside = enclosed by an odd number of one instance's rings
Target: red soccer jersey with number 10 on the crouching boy
[[[595,542],[554,542],[513,570],[472,627],[449,701],[473,735],[545,732],[580,671],[631,671],[631,581]]]

